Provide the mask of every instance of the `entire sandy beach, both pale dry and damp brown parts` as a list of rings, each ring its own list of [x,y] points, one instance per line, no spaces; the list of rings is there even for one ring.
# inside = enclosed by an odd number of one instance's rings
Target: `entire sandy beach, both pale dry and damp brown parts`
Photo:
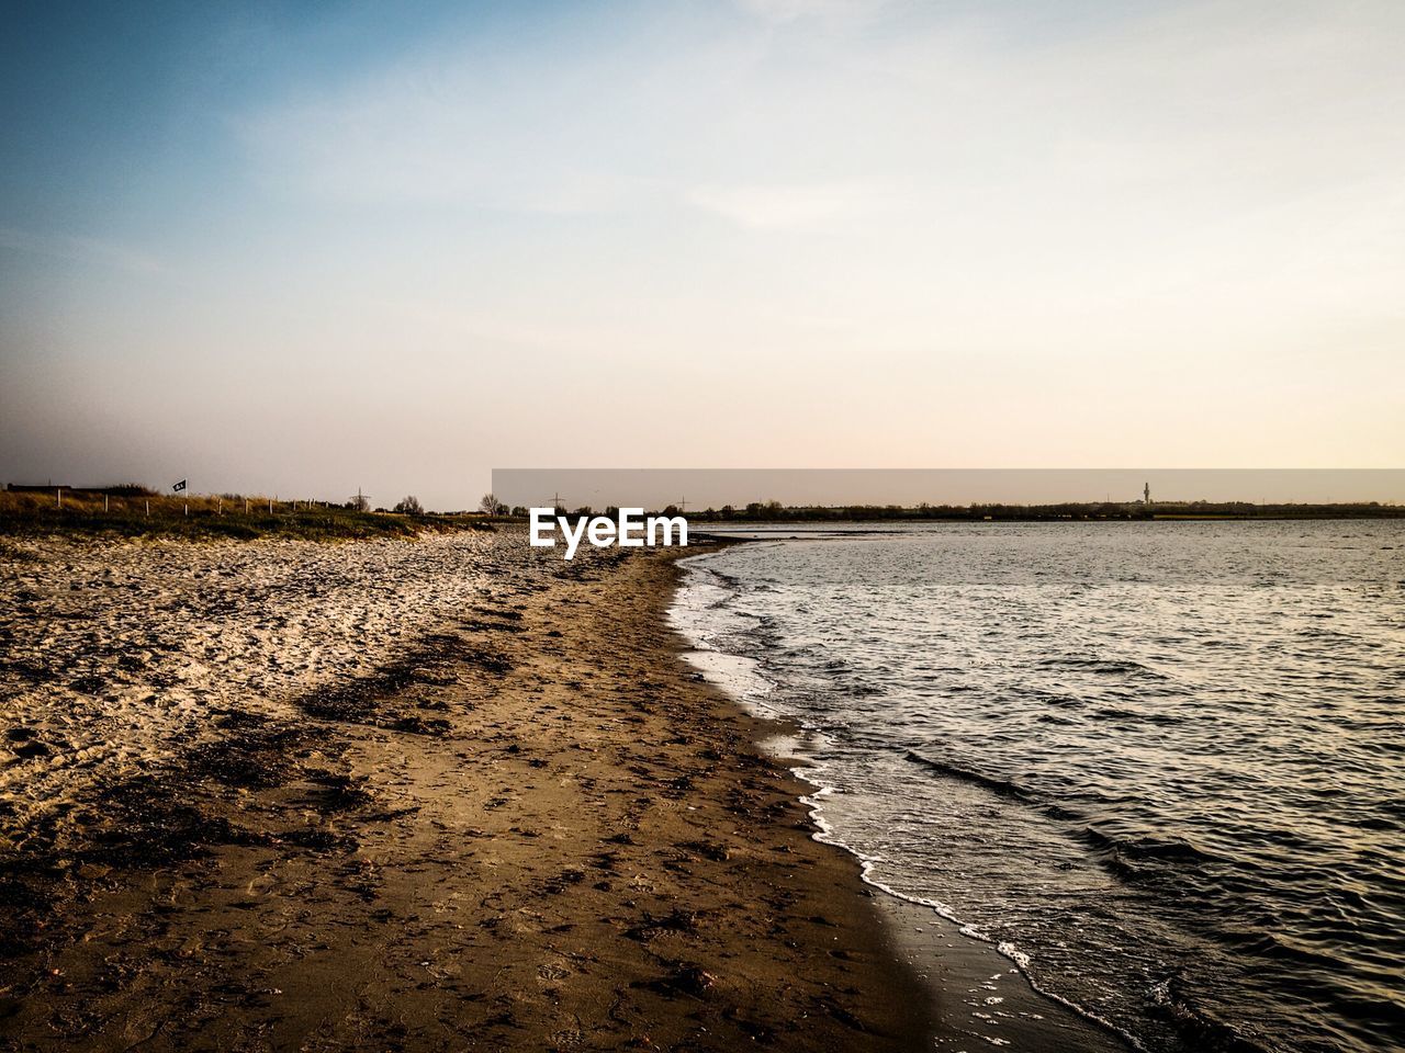
[[[1007,963],[812,838],[774,729],[680,661],[667,559],[3,570],[0,1049],[1096,1046],[1027,988],[1002,1024]]]

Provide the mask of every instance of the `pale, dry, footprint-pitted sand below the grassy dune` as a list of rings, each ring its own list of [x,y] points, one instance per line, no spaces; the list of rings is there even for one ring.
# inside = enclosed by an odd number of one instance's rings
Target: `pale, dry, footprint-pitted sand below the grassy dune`
[[[0,831],[218,734],[226,709],[288,717],[298,698],[367,675],[510,584],[511,552],[483,534],[6,543],[0,727],[17,755],[0,768]]]

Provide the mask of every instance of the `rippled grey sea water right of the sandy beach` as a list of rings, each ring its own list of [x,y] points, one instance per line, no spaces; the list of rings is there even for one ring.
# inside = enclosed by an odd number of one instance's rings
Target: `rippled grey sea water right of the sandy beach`
[[[762,541],[676,618],[816,733],[874,879],[1050,994],[1149,1050],[1405,1049],[1405,522]]]

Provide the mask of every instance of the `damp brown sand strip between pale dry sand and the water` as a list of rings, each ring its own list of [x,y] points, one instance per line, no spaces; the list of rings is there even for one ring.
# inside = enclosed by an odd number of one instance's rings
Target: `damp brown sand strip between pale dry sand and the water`
[[[7,845],[0,1049],[930,1047],[894,922],[681,661],[672,560],[504,566]]]

